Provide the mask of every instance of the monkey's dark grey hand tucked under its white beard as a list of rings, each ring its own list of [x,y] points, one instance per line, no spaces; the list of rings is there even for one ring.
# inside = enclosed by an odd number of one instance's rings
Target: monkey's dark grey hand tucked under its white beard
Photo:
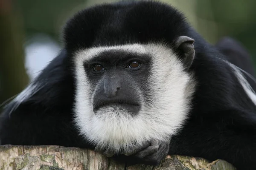
[[[142,147],[136,150],[128,151],[123,154],[133,156],[143,164],[158,165],[160,161],[167,156],[169,146],[170,140],[166,142],[152,140],[151,142],[146,142]]]

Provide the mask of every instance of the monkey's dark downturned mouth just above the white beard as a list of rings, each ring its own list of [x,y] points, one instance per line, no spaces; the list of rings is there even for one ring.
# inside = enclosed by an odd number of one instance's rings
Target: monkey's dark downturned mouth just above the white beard
[[[96,113],[99,109],[107,107],[123,109],[131,114],[137,114],[141,108],[139,103],[133,101],[98,101],[95,102],[93,111]]]

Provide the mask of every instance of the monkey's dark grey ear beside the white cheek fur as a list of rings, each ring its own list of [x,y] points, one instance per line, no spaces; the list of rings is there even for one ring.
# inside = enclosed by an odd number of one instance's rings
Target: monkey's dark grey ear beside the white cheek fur
[[[194,40],[187,36],[180,36],[175,41],[175,50],[179,51],[185,67],[190,68],[195,57]]]

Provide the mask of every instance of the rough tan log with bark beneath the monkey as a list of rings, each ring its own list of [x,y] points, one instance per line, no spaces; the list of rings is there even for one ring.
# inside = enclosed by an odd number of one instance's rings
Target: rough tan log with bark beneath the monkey
[[[167,156],[159,166],[126,167],[93,150],[60,146],[0,146],[0,170],[236,170],[223,160],[209,162]]]

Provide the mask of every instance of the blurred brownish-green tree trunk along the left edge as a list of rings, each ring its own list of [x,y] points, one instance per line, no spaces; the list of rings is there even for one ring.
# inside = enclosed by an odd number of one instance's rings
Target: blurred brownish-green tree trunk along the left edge
[[[20,15],[11,0],[0,0],[0,104],[18,94],[29,82],[24,66]]]

